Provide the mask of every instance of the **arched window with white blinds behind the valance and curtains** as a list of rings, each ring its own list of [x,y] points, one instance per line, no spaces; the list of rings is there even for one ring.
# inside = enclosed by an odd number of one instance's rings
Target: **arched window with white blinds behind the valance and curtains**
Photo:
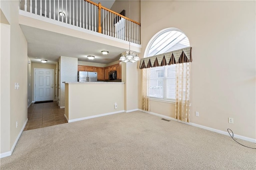
[[[144,53],[151,57],[190,47],[188,37],[179,29],[164,29],[150,40]],[[177,60],[176,60],[177,61]],[[189,64],[189,63],[188,63]],[[153,63],[152,63],[153,65]],[[147,82],[147,96],[160,100],[176,100],[176,64],[151,67]],[[184,72],[184,74],[186,74]],[[184,76],[186,77],[186,76]],[[184,81],[186,83],[186,81]],[[184,84],[185,86],[185,84]]]

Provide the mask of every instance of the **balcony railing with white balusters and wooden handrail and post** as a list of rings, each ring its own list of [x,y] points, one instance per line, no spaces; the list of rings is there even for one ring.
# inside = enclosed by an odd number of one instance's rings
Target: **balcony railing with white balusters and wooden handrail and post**
[[[20,9],[140,44],[140,23],[101,6],[101,3],[90,0],[22,0]]]

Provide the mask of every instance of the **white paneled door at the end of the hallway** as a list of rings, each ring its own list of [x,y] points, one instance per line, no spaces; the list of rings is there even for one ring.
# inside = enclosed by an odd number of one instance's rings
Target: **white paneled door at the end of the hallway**
[[[53,70],[35,68],[35,102],[53,100]]]

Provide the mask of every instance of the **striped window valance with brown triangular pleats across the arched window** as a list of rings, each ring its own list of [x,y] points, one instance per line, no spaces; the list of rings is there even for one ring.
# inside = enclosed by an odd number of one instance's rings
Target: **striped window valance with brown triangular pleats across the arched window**
[[[192,62],[192,47],[140,59],[140,69]]]

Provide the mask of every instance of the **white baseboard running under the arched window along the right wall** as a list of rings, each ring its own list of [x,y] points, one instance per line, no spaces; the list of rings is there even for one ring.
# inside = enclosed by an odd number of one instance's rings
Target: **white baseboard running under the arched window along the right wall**
[[[228,132],[225,132],[225,131],[221,131],[221,130],[218,130],[218,129],[214,129],[214,128],[211,128],[211,127],[207,127],[207,126],[203,126],[203,125],[198,125],[196,123],[188,123],[188,122],[184,122],[184,121],[179,121],[177,119],[174,119],[172,117],[169,117],[169,116],[165,116],[165,115],[160,115],[158,113],[153,113],[153,112],[150,112],[150,111],[145,111],[145,110],[142,110],[142,109],[138,109],[139,111],[142,111],[142,112],[145,112],[145,113],[149,113],[149,114],[152,114],[152,115],[156,115],[156,116],[160,116],[160,117],[164,117],[166,119],[171,119],[171,120],[174,120],[174,121],[178,121],[178,122],[181,122],[181,123],[185,123],[187,125],[192,125],[192,126],[195,126],[195,127],[200,127],[202,129],[206,129],[208,131],[213,131],[213,132],[216,132],[216,133],[220,133],[220,134],[223,134],[223,135],[229,135]],[[249,141],[249,142],[252,142],[252,143],[256,143],[256,139],[252,139],[252,138],[249,138],[249,137],[244,137],[244,136],[241,136],[241,135],[236,135],[234,134],[234,138],[238,138],[238,139],[242,139],[244,141]]]

